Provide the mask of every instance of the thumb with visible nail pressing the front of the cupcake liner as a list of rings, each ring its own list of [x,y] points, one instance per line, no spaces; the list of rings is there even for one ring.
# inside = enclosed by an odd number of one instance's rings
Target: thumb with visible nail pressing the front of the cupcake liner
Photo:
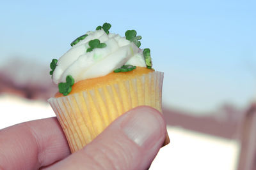
[[[161,113],[141,106],[117,118],[92,143],[49,169],[147,169],[165,136]]]

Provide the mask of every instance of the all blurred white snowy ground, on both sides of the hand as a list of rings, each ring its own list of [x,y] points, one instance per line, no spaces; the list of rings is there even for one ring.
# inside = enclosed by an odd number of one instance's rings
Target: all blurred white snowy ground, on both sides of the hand
[[[0,96],[0,129],[28,120],[54,117],[45,102],[29,101],[15,96]],[[239,144],[214,136],[168,127],[170,145],[161,148],[150,170],[154,169],[218,169],[234,170]]]

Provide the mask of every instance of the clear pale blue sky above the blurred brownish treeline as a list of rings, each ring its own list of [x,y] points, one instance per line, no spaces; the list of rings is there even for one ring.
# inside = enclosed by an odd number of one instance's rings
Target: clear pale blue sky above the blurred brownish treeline
[[[0,62],[49,65],[98,25],[135,29],[164,72],[165,106],[203,113],[256,97],[256,1],[4,1]],[[0,66],[1,66],[0,64]]]

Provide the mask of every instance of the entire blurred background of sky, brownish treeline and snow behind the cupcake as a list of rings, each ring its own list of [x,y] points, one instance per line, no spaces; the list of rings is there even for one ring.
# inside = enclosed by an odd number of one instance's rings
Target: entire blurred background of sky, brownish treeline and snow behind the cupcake
[[[135,29],[164,72],[171,143],[150,169],[256,169],[255,1],[4,1],[0,129],[53,117],[49,75],[70,43],[109,22]]]

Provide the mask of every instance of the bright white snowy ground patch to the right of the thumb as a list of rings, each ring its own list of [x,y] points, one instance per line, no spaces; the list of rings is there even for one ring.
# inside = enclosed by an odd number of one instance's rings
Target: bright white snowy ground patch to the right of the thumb
[[[159,151],[150,170],[235,170],[239,144],[224,138],[168,127],[170,145]]]

